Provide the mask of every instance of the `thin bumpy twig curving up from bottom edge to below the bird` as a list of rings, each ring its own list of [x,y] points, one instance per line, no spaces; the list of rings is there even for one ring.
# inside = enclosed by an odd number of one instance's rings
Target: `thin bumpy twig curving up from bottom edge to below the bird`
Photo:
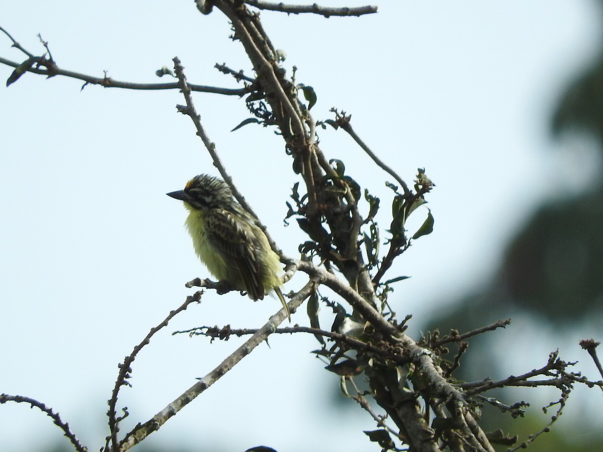
[[[107,443],[105,445],[104,450],[109,451],[109,441],[111,441],[112,443],[111,450],[117,450],[117,433],[119,432],[119,419],[117,418],[115,407],[117,404],[119,389],[122,386],[130,386],[130,383],[128,383],[127,380],[131,376],[131,365],[134,362],[134,359],[136,359],[136,355],[139,353],[140,350],[142,350],[145,345],[147,345],[151,341],[151,337],[153,337],[153,335],[157,333],[157,331],[159,331],[161,328],[165,327],[168,322],[172,318],[174,318],[174,316],[185,310],[189,306],[189,304],[200,301],[202,294],[203,292],[199,291],[195,292],[195,294],[190,297],[186,297],[186,301],[182,305],[180,305],[180,307],[171,311],[169,315],[165,319],[163,319],[163,321],[159,325],[154,328],[151,328],[151,331],[149,331],[149,333],[147,334],[147,336],[145,336],[142,342],[136,345],[132,353],[126,356],[124,362],[119,365],[119,375],[117,377],[117,380],[115,381],[115,386],[113,387],[111,398],[107,402],[109,403],[109,411],[107,411],[107,416],[109,416],[109,431],[111,434],[110,436],[107,436]]]

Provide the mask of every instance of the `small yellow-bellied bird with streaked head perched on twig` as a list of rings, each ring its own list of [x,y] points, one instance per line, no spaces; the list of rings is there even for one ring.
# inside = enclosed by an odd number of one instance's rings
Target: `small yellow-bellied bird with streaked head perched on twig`
[[[274,290],[291,322],[280,289],[279,255],[257,226],[251,213],[233,198],[229,185],[208,174],[195,176],[184,190],[166,193],[183,201],[189,211],[185,224],[195,253],[221,283],[247,292],[251,300],[264,300]]]

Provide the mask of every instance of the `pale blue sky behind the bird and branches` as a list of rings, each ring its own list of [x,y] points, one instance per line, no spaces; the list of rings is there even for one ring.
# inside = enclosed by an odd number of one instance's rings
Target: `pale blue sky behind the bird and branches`
[[[364,4],[323,2],[344,3]],[[426,168],[437,184],[428,198],[434,233],[417,240],[391,274],[412,276],[392,301],[418,328],[429,313],[446,309],[436,300],[453,301],[490,277],[505,240],[531,209],[570,187],[568,166],[594,165],[578,143],[552,142],[548,121],[560,90],[598,49],[600,11],[594,0],[376,4],[378,14],[361,18],[265,12],[262,19],[288,55],[283,66],[297,66],[297,80],[314,86],[315,119],[332,118],[330,107],[352,113],[356,132],[406,181]],[[235,86],[215,63],[249,70],[240,44],[227,39],[226,19],[218,11],[201,16],[192,1],[5,2],[0,26],[35,54],[42,53],[41,33],[60,67],[98,77],[106,70],[116,80],[165,81],[154,72],[176,55],[191,83]],[[3,36],[0,55],[25,59]],[[0,67],[0,79],[10,72]],[[1,89],[0,392],[43,401],[98,450],[118,363],[192,293],[186,281],[207,276],[183,227],[185,209],[165,193],[213,168],[191,121],[175,110],[183,103],[177,91],[80,87],[27,74]],[[283,143],[253,125],[230,133],[248,117],[242,100],[197,94],[195,102],[239,189],[294,256],[302,237],[282,218],[298,179]],[[320,140],[327,158],[344,160],[387,211],[387,175],[343,131],[320,131]],[[522,188],[526,178],[531,192]],[[415,214],[416,227],[423,215]],[[241,343],[210,346],[171,331],[257,327],[277,309],[271,298],[254,304],[214,293],[189,307],[134,362],[134,388],[122,389],[119,400],[130,409],[122,431],[159,412]],[[305,314],[294,322],[306,324]],[[272,337],[270,345],[149,445],[371,447],[361,431],[374,423],[352,402],[338,416],[341,425],[323,412],[338,380],[308,353],[313,337]],[[0,406],[0,425],[6,450],[37,450],[61,438],[48,418],[25,406]]]

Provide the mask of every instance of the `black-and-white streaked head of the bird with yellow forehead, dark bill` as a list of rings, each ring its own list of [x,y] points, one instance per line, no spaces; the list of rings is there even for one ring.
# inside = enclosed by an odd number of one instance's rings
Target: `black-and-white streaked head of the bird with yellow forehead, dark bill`
[[[197,210],[229,209],[233,203],[228,184],[207,174],[200,174],[189,180],[184,190],[166,194]]]

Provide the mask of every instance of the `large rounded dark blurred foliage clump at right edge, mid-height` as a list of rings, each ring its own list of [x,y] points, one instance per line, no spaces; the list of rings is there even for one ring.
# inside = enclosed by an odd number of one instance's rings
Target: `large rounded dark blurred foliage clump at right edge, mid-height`
[[[602,224],[601,191],[535,213],[507,251],[502,274],[508,300],[563,324],[601,310]]]

